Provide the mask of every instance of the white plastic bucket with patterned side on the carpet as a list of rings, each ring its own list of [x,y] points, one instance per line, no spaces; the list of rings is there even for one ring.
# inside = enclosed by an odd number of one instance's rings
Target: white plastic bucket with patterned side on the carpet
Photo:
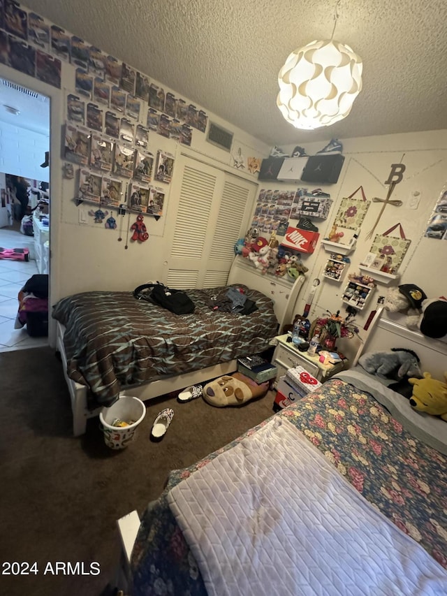
[[[110,449],[124,449],[135,439],[138,425],[146,415],[146,407],[141,400],[130,395],[122,395],[113,405],[105,407],[99,414],[105,444]],[[133,421],[128,426],[113,426],[116,420]]]

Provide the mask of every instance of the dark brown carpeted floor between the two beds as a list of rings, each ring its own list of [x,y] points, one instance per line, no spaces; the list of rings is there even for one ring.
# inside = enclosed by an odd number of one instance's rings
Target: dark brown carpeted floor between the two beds
[[[1,593],[8,596],[101,594],[119,562],[116,520],[156,499],[170,470],[191,465],[272,415],[270,392],[238,408],[214,408],[201,398],[152,400],[135,442],[112,451],[98,419],[88,421],[83,437],[71,435],[70,398],[50,347],[1,353],[0,375],[1,562],[36,562],[38,569],[3,575]],[[152,443],[154,418],[168,406],[173,422],[163,440]],[[101,574],[55,575],[56,562],[84,562],[85,573],[98,562]]]

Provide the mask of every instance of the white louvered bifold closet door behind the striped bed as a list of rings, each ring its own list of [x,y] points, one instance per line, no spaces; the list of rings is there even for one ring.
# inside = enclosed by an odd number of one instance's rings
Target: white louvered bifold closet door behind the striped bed
[[[170,194],[175,225],[166,231],[169,256],[163,277],[177,289],[225,285],[235,242],[249,227],[257,184],[185,155],[175,167],[181,184],[178,193]]]

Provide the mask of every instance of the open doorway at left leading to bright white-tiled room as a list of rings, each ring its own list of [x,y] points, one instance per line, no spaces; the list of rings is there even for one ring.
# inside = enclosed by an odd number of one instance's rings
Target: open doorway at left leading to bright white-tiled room
[[[9,351],[48,343],[42,289],[36,296],[27,282],[50,274],[50,98],[0,78],[0,146],[0,351]]]

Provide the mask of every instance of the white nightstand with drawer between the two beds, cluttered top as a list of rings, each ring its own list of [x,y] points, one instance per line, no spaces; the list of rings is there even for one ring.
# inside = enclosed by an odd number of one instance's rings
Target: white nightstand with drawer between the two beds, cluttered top
[[[272,364],[278,369],[275,382],[278,381],[279,377],[285,375],[289,368],[295,366],[302,366],[321,383],[346,368],[347,361],[337,364],[323,364],[318,361],[318,355],[309,356],[307,352],[300,352],[293,343],[287,342],[288,337],[290,336],[286,334],[275,338],[278,342],[272,358]]]

